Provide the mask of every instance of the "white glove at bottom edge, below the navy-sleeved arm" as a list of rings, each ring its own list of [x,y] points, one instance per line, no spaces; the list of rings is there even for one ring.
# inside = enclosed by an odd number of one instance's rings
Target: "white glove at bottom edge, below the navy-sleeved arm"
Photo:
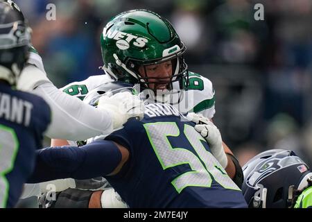
[[[121,196],[113,189],[106,189],[101,195],[102,208],[129,208]]]

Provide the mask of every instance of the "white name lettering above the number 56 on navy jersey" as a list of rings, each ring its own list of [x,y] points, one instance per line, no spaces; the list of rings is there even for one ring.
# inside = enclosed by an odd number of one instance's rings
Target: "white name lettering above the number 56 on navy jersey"
[[[181,116],[180,112],[177,111],[170,104],[162,103],[153,103],[145,106],[146,110],[144,114],[147,114],[148,117],[162,117],[162,116]]]

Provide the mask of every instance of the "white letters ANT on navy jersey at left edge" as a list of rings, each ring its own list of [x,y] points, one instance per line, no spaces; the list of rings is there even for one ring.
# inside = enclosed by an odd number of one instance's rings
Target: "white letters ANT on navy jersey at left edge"
[[[10,94],[0,93],[0,118],[29,126],[33,104]]]

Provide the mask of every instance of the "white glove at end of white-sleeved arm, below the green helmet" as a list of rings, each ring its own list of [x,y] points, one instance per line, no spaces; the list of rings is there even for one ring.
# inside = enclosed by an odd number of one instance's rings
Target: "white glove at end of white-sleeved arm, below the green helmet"
[[[145,111],[144,102],[130,92],[119,92],[113,96],[104,95],[98,100],[98,108],[110,113],[114,130],[122,128],[131,117],[143,119]]]

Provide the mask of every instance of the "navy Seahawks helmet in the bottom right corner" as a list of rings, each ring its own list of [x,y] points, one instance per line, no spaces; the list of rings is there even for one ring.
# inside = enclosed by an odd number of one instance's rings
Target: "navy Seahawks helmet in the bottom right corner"
[[[243,166],[243,195],[249,207],[286,208],[308,185],[309,167],[293,151],[272,149]]]

